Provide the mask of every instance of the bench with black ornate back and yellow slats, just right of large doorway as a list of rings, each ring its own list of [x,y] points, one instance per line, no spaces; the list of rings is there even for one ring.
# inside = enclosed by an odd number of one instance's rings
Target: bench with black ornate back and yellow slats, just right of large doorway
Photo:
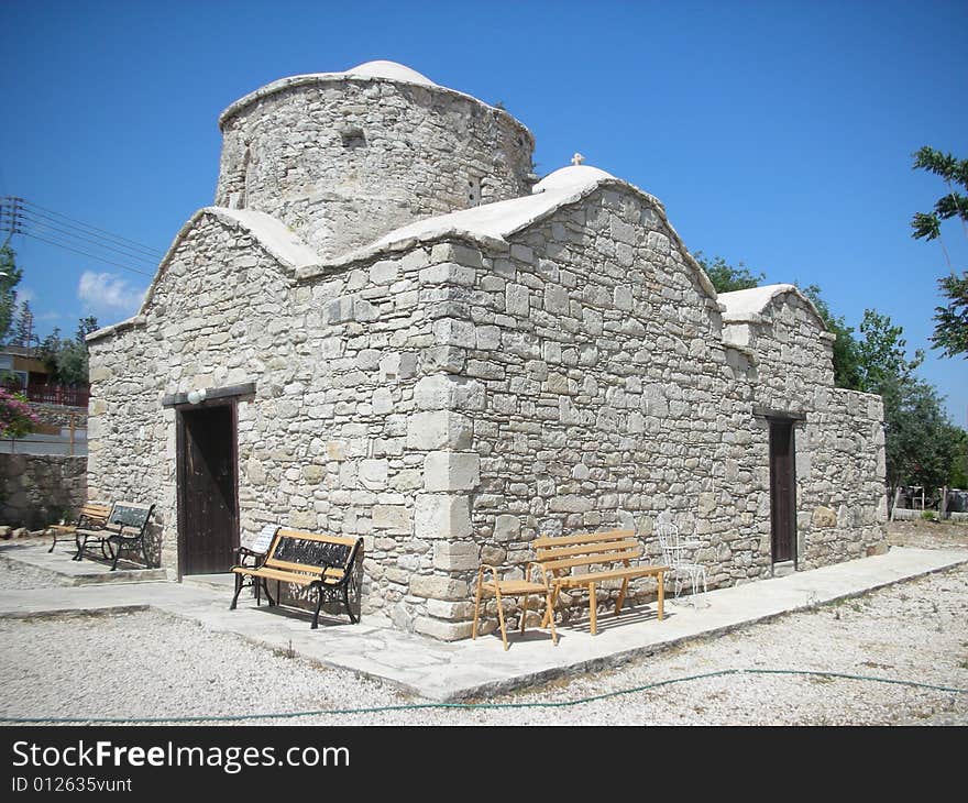
[[[312,629],[319,626],[319,609],[326,597],[337,597],[341,593],[350,622],[356,624],[350,608],[350,581],[356,556],[363,549],[363,539],[349,536],[322,536],[302,530],[279,528],[265,553],[255,565],[234,565],[235,595],[229,610],[235,609],[239,593],[245,587],[245,579],[256,590],[256,605],[260,603],[260,587],[265,592],[270,605],[279,601],[283,583],[294,583],[317,593],[316,613],[312,615]],[[276,581],[276,598],[268,590],[268,581]],[[339,597],[338,597],[339,598]]]

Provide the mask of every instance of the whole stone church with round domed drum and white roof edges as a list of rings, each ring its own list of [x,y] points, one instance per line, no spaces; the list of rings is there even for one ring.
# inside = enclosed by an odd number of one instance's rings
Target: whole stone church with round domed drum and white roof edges
[[[155,503],[170,576],[266,524],[361,535],[364,616],[450,640],[539,534],[658,556],[669,517],[711,586],[884,549],[880,398],[792,285],[717,296],[653,196],[539,180],[507,111],[389,62],[219,125],[215,206],[88,339],[88,495]]]

